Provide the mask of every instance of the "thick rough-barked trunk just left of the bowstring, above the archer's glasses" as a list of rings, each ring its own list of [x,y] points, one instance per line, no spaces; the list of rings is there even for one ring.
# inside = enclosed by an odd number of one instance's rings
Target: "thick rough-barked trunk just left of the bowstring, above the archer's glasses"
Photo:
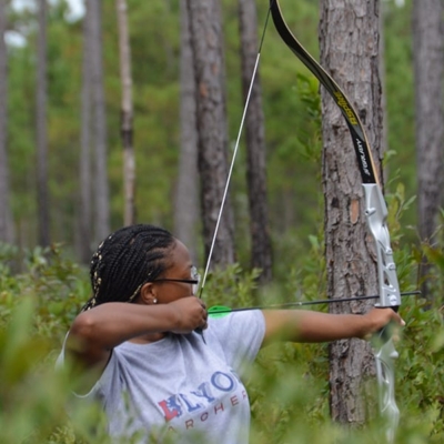
[[[220,4],[216,1],[188,0],[191,44],[196,85],[196,124],[201,204],[205,253],[210,255],[218,215],[228,178],[228,129],[225,74]],[[226,199],[215,239],[212,263],[235,260],[234,221]]]

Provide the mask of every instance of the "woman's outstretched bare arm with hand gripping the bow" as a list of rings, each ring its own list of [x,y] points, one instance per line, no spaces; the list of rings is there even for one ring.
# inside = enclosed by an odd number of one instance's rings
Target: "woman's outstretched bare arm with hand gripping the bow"
[[[341,339],[364,339],[391,321],[404,325],[392,309],[373,309],[361,314],[330,314],[305,310],[264,310],[263,346],[273,341],[330,342]]]

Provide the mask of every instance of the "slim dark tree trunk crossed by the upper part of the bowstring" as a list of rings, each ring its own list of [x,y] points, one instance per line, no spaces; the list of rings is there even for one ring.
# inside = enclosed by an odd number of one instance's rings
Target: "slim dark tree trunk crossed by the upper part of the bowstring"
[[[242,90],[246,100],[258,56],[258,18],[254,0],[239,0]],[[265,131],[259,72],[245,117],[246,179],[249,186],[251,264],[261,269],[259,280],[272,279],[272,250],[266,202]]]

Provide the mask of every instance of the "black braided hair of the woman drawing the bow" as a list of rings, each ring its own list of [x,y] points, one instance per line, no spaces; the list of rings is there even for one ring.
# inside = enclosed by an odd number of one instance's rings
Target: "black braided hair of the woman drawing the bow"
[[[174,243],[169,231],[148,224],[111,233],[92,255],[92,297],[82,312],[105,302],[132,302],[144,283],[168,269],[168,253]]]

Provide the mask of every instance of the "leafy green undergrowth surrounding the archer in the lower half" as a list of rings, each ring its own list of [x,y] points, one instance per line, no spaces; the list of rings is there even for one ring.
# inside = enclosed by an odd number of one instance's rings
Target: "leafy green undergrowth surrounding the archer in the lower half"
[[[208,305],[281,302],[278,294],[285,302],[301,294],[319,294],[322,299],[320,276],[312,275],[322,255],[316,244],[304,263],[295,268],[297,272],[289,272],[289,282],[268,289],[266,295],[255,287],[255,271],[246,273],[233,265],[210,274],[204,294]],[[433,282],[440,290],[443,254],[425,251],[437,266]],[[60,245],[24,253],[0,245],[0,442],[107,443],[99,410],[73,404],[73,379],[68,371],[54,370],[69,324],[89,296],[85,270],[64,259]],[[402,252],[398,261],[403,270],[416,266],[416,260]],[[24,271],[14,271],[19,263],[24,264]],[[430,307],[410,297],[401,309],[407,325],[396,344],[396,402],[401,410],[397,443],[444,442],[441,301],[436,297],[435,306]],[[367,384],[373,384],[376,393],[375,380]],[[384,442],[375,398],[365,400],[372,418],[369,424],[350,431],[331,423],[326,345],[268,347],[261,352],[246,385],[252,408],[251,442]]]

